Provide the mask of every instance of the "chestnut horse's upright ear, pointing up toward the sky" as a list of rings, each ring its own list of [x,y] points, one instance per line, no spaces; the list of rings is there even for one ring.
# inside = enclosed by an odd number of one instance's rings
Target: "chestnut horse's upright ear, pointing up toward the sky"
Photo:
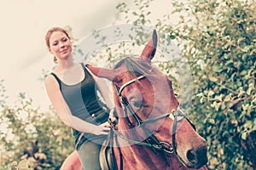
[[[146,46],[143,49],[143,53],[141,54],[141,58],[150,61],[154,58],[154,54],[156,52],[156,46],[157,46],[157,34],[156,31],[153,31],[152,38],[149,40],[149,42],[146,44]]]

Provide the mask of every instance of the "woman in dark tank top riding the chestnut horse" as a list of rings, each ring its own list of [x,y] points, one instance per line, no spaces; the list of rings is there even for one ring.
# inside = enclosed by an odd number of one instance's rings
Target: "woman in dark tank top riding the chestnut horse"
[[[99,150],[110,130],[107,121],[109,111],[114,107],[110,91],[87,65],[73,61],[73,47],[67,31],[60,27],[51,28],[45,42],[56,63],[55,69],[45,78],[49,99],[61,121],[73,128],[83,168],[100,169]],[[97,91],[108,107],[101,102]]]

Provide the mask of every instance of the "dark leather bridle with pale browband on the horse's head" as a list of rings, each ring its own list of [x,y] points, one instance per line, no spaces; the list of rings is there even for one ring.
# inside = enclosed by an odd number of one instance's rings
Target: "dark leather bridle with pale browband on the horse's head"
[[[164,152],[166,152],[167,154],[172,154],[174,153],[179,159],[181,159],[180,156],[177,155],[177,144],[176,144],[176,128],[177,128],[177,122],[180,122],[183,120],[183,118],[186,118],[188,120],[188,122],[190,123],[190,125],[195,129],[195,125],[189,121],[189,119],[184,115],[183,111],[181,110],[180,106],[178,105],[177,110],[160,115],[160,116],[155,116],[152,118],[149,118],[145,121],[142,121],[136,114],[135,111],[133,111],[133,109],[131,108],[131,105],[129,104],[129,102],[127,101],[127,99],[125,99],[125,97],[122,95],[122,91],[124,90],[125,87],[131,85],[134,82],[137,82],[141,79],[143,79],[145,77],[145,75],[137,77],[132,79],[129,82],[125,82],[125,84],[123,84],[120,88],[114,84],[115,89],[119,95],[119,98],[121,99],[121,104],[122,104],[122,109],[124,111],[124,116],[125,116],[125,121],[128,123],[129,127],[133,128],[135,127],[130,119],[128,118],[128,112],[127,110],[130,112],[130,115],[132,116],[133,120],[136,122],[136,126],[137,127],[142,127],[144,133],[149,136],[147,139],[145,139],[144,141],[137,141],[137,140],[133,140],[133,139],[127,139],[122,133],[119,133],[117,130],[114,129],[113,125],[112,125],[112,129],[113,129],[113,133],[115,133],[117,136],[119,136],[121,139],[125,139],[126,141],[132,143],[132,144],[138,144],[138,145],[142,145],[142,146],[146,146],[148,148],[151,148],[152,150],[156,151],[156,150],[162,150]],[[172,118],[173,123],[172,123],[172,144],[169,144],[166,141],[159,141],[154,134],[151,134],[147,128],[143,127],[143,124],[149,123],[149,122],[155,122],[157,120],[160,120],[162,118],[165,118],[169,116],[170,118]],[[181,160],[183,161],[183,160]]]

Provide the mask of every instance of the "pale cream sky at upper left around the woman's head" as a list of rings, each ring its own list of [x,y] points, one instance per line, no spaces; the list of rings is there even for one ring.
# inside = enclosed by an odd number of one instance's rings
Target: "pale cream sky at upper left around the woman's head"
[[[125,1],[132,2],[132,1]],[[47,108],[44,82],[38,79],[54,63],[44,44],[46,31],[53,26],[71,26],[73,35],[83,38],[95,29],[114,23],[120,1],[114,0],[1,0],[0,79],[7,89],[8,104],[26,93],[33,103]],[[154,2],[155,17],[172,9],[168,0]]]

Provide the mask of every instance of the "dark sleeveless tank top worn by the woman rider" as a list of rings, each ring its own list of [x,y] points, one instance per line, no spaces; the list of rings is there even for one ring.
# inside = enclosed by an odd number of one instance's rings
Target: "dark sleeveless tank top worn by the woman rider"
[[[67,85],[61,81],[55,73],[50,74],[55,77],[59,83],[61,94],[67,105],[72,112],[73,116],[78,116],[85,122],[90,122],[96,125],[102,122],[108,121],[108,108],[97,95],[96,82],[87,71],[84,64],[81,64],[84,69],[84,79],[74,85]],[[73,135],[75,136],[76,143],[79,138],[80,132],[73,129]],[[93,138],[93,134],[85,134],[86,139]]]

